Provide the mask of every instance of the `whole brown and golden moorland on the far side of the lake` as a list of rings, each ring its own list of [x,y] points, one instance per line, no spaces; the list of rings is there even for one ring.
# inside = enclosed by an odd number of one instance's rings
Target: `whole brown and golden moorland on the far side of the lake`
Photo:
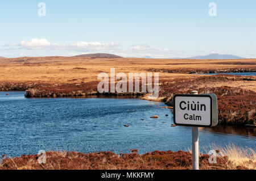
[[[20,57],[1,58],[0,68],[0,90],[26,90],[27,97],[98,95],[98,73],[109,74],[110,68],[126,74],[158,72],[160,92],[154,100],[172,106],[175,94],[189,94],[191,90],[214,93],[220,124],[256,124],[255,76],[193,74],[256,71],[256,59]],[[149,98],[144,95],[143,99]]]

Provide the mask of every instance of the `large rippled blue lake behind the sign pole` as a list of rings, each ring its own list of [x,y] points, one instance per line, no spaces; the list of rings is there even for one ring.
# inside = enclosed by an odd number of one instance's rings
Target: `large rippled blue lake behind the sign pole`
[[[0,92],[1,155],[37,154],[39,150],[129,153],[136,148],[146,153],[191,148],[191,128],[171,127],[172,113],[160,108],[163,103],[113,98],[29,99],[24,92],[5,94]],[[150,118],[154,115],[159,119]],[[199,137],[201,150],[213,144],[256,147],[255,136],[202,129]]]

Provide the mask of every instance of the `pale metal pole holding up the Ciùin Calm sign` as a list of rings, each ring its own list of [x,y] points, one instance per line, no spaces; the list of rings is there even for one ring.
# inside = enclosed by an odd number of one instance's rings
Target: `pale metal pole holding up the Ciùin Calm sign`
[[[192,94],[198,94],[198,91],[192,91]],[[199,170],[198,127],[192,127],[192,169]]]

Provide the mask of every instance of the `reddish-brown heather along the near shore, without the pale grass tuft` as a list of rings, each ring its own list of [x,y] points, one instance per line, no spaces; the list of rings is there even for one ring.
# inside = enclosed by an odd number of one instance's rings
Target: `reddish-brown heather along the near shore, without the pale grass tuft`
[[[192,155],[185,151],[152,151],[143,155],[137,149],[130,154],[114,154],[110,151],[79,153],[75,151],[49,151],[45,164],[38,163],[40,155],[22,155],[5,158],[0,169],[191,169]],[[217,157],[216,164],[208,162],[209,155],[200,155],[200,169],[227,169],[228,157]]]

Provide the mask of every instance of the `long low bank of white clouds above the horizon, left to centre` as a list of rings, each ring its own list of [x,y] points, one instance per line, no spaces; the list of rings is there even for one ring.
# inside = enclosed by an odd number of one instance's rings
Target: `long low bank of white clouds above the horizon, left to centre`
[[[100,42],[86,42],[79,41],[77,43],[51,43],[47,39],[34,38],[31,40],[22,40],[20,43],[10,43],[4,47],[12,47],[9,50],[47,50],[48,53],[58,54],[80,54],[80,53],[113,53],[125,57],[170,57],[171,52],[168,48],[150,47],[148,44],[134,44],[130,47],[123,48],[118,43],[100,43]],[[5,49],[7,50],[7,48]],[[80,53],[79,53],[80,52]],[[28,53],[26,53],[28,54]],[[46,55],[47,56],[47,55]]]

